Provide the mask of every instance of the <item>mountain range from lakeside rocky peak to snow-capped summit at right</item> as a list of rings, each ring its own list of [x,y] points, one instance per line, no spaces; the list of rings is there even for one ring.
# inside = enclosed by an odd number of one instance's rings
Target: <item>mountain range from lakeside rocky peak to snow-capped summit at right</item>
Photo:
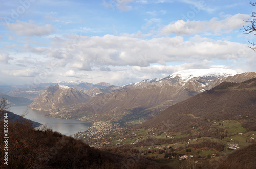
[[[51,111],[53,117],[68,115],[80,120],[110,120],[124,124],[139,118],[150,119],[165,108],[209,90],[223,81],[241,82],[253,77],[256,77],[254,72],[237,74],[222,68],[186,70],[165,78],[143,80],[122,87],[109,86],[86,91],[73,89],[66,91],[65,95],[70,97],[65,98],[61,92],[53,94],[50,90],[53,87],[49,87],[29,107]],[[80,93],[79,96],[83,97],[79,98],[69,92]],[[58,103],[50,100],[58,100]]]

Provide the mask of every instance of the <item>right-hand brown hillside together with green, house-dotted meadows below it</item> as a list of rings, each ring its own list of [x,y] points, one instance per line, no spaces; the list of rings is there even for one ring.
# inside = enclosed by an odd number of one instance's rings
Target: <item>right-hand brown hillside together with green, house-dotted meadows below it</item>
[[[175,168],[184,160],[196,167],[212,166],[214,161],[219,166],[236,150],[255,144],[255,92],[255,78],[240,84],[223,82],[144,123],[110,134],[92,137],[87,131],[76,137],[102,150],[125,150]]]

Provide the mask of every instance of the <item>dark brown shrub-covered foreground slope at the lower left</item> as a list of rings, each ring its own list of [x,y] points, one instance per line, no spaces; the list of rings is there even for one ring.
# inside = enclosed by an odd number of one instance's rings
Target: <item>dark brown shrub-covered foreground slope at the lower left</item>
[[[0,128],[4,128],[1,120]],[[0,135],[0,168],[160,168],[145,158],[119,155],[90,147],[51,129],[35,130],[26,121],[10,122],[8,165],[4,164],[4,133]],[[130,162],[130,163],[129,163]],[[125,167],[124,167],[125,168]],[[169,167],[166,167],[169,168]]]

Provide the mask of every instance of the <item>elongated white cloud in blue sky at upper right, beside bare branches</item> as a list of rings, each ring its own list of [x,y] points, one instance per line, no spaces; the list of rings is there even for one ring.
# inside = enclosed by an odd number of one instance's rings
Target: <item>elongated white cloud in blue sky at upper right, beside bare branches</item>
[[[207,31],[219,34],[226,30],[242,27],[245,24],[244,20],[247,20],[249,17],[246,14],[236,14],[233,16],[227,15],[223,20],[218,18],[212,18],[210,21],[178,20],[163,27],[160,30],[160,34],[192,35]]]

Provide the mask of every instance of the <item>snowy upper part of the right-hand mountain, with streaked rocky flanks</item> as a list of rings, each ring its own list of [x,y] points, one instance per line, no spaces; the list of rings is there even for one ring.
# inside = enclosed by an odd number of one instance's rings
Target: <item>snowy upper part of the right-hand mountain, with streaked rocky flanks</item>
[[[142,89],[149,85],[163,88],[172,86],[177,91],[189,90],[190,92],[194,91],[197,93],[210,89],[209,86],[216,86],[215,83],[211,84],[214,79],[234,76],[236,74],[236,71],[224,68],[189,69],[175,72],[164,78],[147,79],[135,84],[132,83],[125,87],[129,89]]]

